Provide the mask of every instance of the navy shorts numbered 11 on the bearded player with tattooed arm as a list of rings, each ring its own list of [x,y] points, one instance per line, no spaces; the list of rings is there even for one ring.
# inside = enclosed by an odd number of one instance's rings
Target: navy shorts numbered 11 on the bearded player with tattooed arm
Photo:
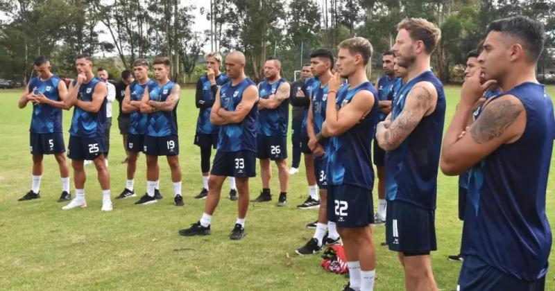
[[[387,201],[386,242],[392,251],[406,256],[427,255],[437,249],[434,210],[414,204]]]

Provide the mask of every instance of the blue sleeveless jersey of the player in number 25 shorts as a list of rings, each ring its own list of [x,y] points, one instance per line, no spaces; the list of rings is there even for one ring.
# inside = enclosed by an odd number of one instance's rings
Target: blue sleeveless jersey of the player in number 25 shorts
[[[96,87],[99,82],[102,82],[102,80],[94,77],[90,82],[81,84],[77,93],[77,98],[84,102],[92,102],[94,87]],[[73,82],[73,85],[76,85],[76,81]],[[104,136],[105,127],[106,97],[104,97],[102,105],[96,113],[86,112],[78,106],[74,107],[74,116],[71,119],[69,134],[80,137],[102,137]]]

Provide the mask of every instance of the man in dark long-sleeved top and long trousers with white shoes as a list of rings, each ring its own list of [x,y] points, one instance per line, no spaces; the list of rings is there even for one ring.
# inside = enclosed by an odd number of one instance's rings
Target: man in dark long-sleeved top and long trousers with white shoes
[[[291,168],[289,175],[295,175],[299,172],[300,165],[300,129],[302,127],[303,111],[310,104],[308,98],[298,98],[297,92],[305,87],[305,82],[312,76],[310,64],[305,64],[300,68],[300,78],[291,83],[291,92],[289,92],[289,103],[293,106],[291,113],[291,148],[293,148],[293,157],[291,158]]]

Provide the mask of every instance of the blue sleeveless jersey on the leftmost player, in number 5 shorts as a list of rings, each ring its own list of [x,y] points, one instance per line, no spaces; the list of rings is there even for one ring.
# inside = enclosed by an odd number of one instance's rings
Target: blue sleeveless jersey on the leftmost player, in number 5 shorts
[[[60,101],[58,95],[58,83],[60,78],[51,76],[48,80],[40,80],[35,77],[29,81],[29,90],[34,91],[35,95],[44,94],[46,98]],[[33,133],[52,133],[62,132],[62,109],[47,104],[33,105],[33,115],[31,116],[30,132]]]

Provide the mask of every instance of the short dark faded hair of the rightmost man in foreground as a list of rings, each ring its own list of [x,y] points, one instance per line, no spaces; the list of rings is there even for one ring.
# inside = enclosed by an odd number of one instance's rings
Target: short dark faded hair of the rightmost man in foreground
[[[522,48],[529,59],[538,62],[545,44],[545,29],[540,21],[524,16],[513,16],[498,19],[488,25],[486,33],[497,31],[506,37],[515,37],[522,41]]]

